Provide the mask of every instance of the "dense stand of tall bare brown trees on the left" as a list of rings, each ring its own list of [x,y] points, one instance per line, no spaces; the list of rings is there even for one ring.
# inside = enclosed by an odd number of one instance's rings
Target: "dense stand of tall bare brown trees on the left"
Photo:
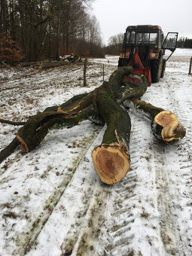
[[[26,61],[74,53],[103,56],[94,0],[0,0],[0,55]],[[13,54],[14,54],[13,53]]]

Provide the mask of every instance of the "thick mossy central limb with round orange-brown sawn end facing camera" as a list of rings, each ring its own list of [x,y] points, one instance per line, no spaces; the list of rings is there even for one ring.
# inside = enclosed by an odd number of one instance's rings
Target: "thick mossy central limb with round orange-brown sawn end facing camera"
[[[102,145],[92,152],[93,163],[99,178],[106,184],[120,181],[130,169],[130,116],[111,96],[110,84],[104,82],[96,93],[96,104],[107,129]]]

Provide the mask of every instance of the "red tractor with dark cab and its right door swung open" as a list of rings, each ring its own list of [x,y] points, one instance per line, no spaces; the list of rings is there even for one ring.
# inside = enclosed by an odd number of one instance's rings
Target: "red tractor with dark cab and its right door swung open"
[[[132,66],[133,73],[145,75],[148,85],[156,83],[164,76],[166,61],[175,51],[177,39],[178,32],[169,32],[163,40],[160,26],[128,26],[118,67]],[[163,59],[165,50],[172,52],[167,59]]]

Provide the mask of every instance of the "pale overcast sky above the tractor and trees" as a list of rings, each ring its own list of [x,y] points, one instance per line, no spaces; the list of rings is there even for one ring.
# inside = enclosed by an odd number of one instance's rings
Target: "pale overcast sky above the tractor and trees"
[[[95,0],[93,14],[105,44],[130,25],[159,25],[164,35],[178,32],[178,38],[192,38],[192,0]]]

